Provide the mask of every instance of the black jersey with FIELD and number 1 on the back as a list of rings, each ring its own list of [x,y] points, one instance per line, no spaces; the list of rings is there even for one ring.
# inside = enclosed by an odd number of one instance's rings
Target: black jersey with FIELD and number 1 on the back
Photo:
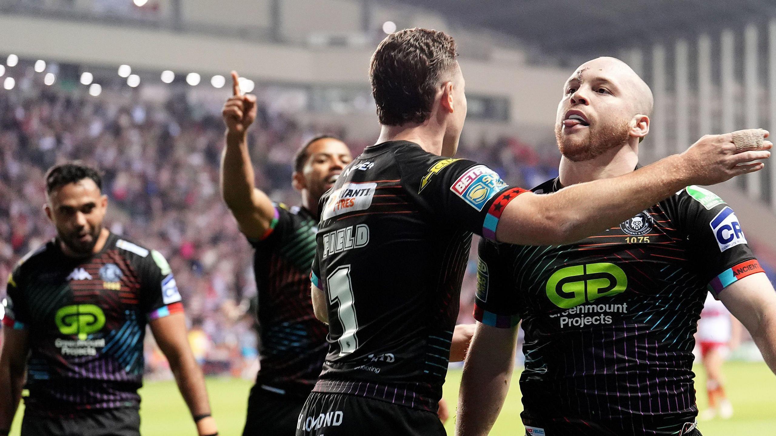
[[[417,144],[366,147],[321,199],[312,279],[331,344],[315,392],[436,410],[472,232],[494,237],[512,188]]]

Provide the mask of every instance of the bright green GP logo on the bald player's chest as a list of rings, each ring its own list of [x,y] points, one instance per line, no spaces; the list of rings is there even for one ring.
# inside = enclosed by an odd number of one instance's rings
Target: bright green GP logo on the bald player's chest
[[[571,309],[602,296],[615,296],[628,287],[622,268],[610,263],[569,266],[547,281],[547,298],[558,307]]]

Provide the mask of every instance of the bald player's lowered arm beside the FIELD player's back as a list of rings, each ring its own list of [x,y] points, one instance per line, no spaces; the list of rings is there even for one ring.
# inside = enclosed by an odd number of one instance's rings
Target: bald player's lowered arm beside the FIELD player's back
[[[477,323],[463,365],[456,435],[486,435],[496,422],[514,369],[518,326],[490,327]]]

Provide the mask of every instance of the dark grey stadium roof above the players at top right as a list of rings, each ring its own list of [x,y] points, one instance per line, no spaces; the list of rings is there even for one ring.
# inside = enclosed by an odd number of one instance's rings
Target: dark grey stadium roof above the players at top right
[[[774,0],[395,0],[550,55],[600,54],[776,16]]]

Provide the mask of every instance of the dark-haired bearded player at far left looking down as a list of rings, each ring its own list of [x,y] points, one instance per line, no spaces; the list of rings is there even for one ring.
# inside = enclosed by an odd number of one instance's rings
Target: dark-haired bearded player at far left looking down
[[[26,386],[23,436],[139,435],[146,325],[198,433],[217,434],[170,265],[158,251],[102,227],[108,198],[94,169],[57,165],[46,186],[57,237],[27,254],[9,277],[0,434],[8,434]]]

